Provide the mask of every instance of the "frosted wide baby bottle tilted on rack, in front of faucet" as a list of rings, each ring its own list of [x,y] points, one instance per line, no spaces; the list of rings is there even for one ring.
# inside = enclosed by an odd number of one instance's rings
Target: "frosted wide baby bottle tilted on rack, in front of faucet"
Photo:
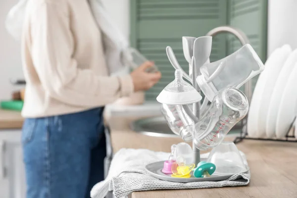
[[[207,99],[212,101],[218,91],[238,89],[263,70],[261,59],[247,44],[225,58],[203,65],[197,83]]]

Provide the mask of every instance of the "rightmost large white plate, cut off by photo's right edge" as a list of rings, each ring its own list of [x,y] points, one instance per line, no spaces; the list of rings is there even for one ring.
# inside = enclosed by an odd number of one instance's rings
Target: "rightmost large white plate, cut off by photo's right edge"
[[[275,134],[277,138],[283,138],[286,136],[297,114],[296,79],[297,79],[297,63],[295,62],[294,68],[290,74],[290,77],[289,78],[287,77],[287,85],[284,89],[284,94],[282,95],[279,113],[276,119]]]

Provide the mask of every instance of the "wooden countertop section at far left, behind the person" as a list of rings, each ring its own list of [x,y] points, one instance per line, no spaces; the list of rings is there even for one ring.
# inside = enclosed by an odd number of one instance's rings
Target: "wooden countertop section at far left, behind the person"
[[[0,109],[0,130],[21,129],[24,119],[18,111],[8,111]]]

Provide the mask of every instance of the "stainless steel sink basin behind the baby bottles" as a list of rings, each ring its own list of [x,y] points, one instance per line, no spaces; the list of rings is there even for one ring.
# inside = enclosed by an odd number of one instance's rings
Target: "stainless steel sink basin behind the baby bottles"
[[[242,125],[241,122],[233,127],[227,136],[238,136]],[[175,135],[167,125],[164,117],[151,117],[139,119],[131,123],[131,129],[135,132],[142,133],[147,136],[163,137],[163,138],[180,138]]]

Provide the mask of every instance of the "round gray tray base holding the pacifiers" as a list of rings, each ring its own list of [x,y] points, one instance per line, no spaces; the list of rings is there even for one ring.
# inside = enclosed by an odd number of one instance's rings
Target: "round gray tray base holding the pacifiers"
[[[206,161],[206,159],[201,158],[201,161]],[[158,178],[160,180],[165,180],[169,182],[179,182],[179,183],[189,183],[189,182],[206,182],[206,181],[222,181],[230,178],[233,174],[231,175],[217,175],[215,172],[210,176],[210,177],[205,177],[205,178],[196,178],[193,176],[193,171],[191,172],[191,177],[190,178],[176,178],[176,177],[171,177],[171,175],[167,175],[162,173],[162,168],[164,165],[164,161],[158,161],[154,163],[150,163],[146,165],[146,170],[148,171],[148,174]],[[246,173],[249,168],[246,167],[247,169],[243,172],[240,173]]]

